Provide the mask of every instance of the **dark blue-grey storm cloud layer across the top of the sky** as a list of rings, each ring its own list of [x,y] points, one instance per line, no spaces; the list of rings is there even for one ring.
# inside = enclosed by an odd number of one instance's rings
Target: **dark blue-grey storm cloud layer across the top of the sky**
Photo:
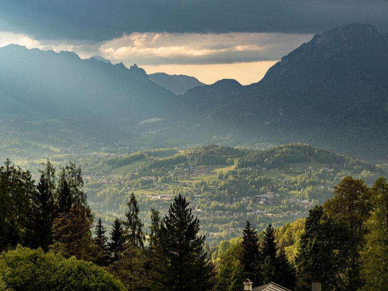
[[[131,32],[323,32],[368,23],[388,31],[382,0],[0,0],[0,31],[103,41]]]

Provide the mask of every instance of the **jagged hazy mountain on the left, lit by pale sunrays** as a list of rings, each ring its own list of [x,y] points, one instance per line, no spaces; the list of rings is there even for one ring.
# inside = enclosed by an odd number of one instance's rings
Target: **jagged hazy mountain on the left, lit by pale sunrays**
[[[98,116],[136,124],[168,118],[175,95],[126,68],[72,52],[9,45],[0,49],[0,110],[43,116]]]

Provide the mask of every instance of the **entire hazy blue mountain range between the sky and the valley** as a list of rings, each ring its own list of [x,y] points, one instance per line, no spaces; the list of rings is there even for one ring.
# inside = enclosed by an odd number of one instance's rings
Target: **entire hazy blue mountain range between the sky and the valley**
[[[388,34],[364,24],[314,35],[247,86],[10,45],[0,48],[0,130],[46,140],[70,130],[85,143],[148,134],[147,146],[305,142],[387,160],[387,80]]]

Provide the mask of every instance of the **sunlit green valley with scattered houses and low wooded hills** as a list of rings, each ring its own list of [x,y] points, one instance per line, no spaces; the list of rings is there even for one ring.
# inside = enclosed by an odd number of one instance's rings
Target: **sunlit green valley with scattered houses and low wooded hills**
[[[108,229],[115,218],[124,218],[131,193],[139,202],[146,229],[151,209],[163,216],[174,197],[182,194],[199,218],[208,247],[240,236],[247,220],[261,230],[269,223],[278,227],[306,217],[309,209],[331,196],[345,176],[371,184],[386,173],[384,165],[305,144],[262,147],[266,149],[127,146],[61,152],[44,148],[54,165],[71,161],[81,166],[89,205],[95,219],[101,217]],[[37,179],[45,159],[13,162],[31,169]]]

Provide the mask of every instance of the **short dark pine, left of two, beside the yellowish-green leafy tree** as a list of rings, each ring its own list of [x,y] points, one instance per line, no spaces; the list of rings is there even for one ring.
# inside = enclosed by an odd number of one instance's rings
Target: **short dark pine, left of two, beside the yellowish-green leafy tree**
[[[94,230],[96,237],[93,239],[93,261],[99,266],[107,266],[110,259],[108,250],[108,238],[105,236],[105,232],[106,228],[102,225],[101,217],[99,217]]]

